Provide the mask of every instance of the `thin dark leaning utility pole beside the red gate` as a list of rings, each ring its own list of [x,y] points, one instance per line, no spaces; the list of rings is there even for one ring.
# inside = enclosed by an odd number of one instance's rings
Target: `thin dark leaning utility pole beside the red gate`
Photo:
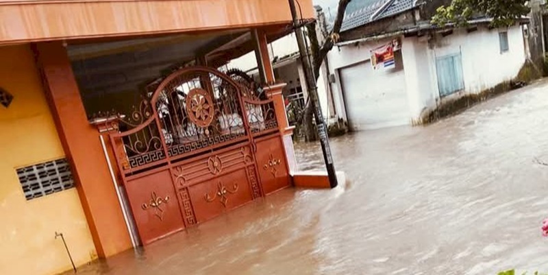
[[[301,64],[303,64],[303,70],[306,78],[306,86],[308,87],[308,97],[310,98],[310,104],[314,109],[314,117],[316,119],[316,128],[318,129],[318,136],[320,138],[321,150],[323,152],[323,160],[325,167],[327,168],[327,176],[329,177],[329,185],[331,188],[337,187],[337,176],[335,173],[335,166],[333,164],[333,157],[331,155],[331,149],[329,148],[329,136],[327,135],[327,127],[323,120],[323,114],[321,112],[321,106],[318,99],[318,88],[316,87],[316,78],[312,73],[312,64],[310,64],[310,58],[308,56],[308,49],[304,42],[303,30],[299,26],[299,19],[297,19],[297,9],[295,8],[295,0],[288,0],[289,8],[291,10],[291,16],[293,19],[293,29],[295,29],[295,36],[297,37],[297,45],[299,46],[299,55]]]

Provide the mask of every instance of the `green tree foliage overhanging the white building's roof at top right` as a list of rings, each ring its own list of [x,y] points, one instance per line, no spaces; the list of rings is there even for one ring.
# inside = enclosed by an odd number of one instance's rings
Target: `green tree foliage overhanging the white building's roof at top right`
[[[493,19],[492,27],[509,26],[516,19],[529,14],[527,0],[453,0],[449,6],[440,6],[432,16],[432,23],[440,26],[448,23],[466,25],[474,15]]]

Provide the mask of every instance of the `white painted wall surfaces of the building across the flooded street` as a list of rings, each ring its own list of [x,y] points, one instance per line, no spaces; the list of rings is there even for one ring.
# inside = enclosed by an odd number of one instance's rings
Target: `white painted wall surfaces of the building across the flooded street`
[[[521,26],[514,25],[508,28],[510,49],[504,53],[501,53],[499,47],[499,31],[501,29],[479,27],[476,32],[467,33],[465,29],[456,29],[453,34],[446,37],[439,36],[437,40],[430,42],[427,36],[402,38],[401,51],[410,119],[418,121],[421,114],[436,108],[436,104],[440,102],[470,93],[479,93],[516,77],[526,58]],[[329,52],[329,68],[336,76],[336,84],[332,84],[332,87],[338,117],[347,119],[340,77],[336,71],[351,64],[369,60],[371,49],[388,42],[388,39],[370,41],[357,46],[335,47]],[[462,53],[464,91],[440,99],[436,57],[459,51]],[[375,79],[371,81],[374,82]]]

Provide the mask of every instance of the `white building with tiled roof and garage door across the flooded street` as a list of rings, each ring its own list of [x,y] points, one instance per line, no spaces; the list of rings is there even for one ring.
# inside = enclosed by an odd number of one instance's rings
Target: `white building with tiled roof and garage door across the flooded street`
[[[380,0],[345,16],[328,62],[334,112],[351,130],[421,123],[442,104],[513,80],[523,66],[519,23],[491,29],[477,19],[440,28],[427,20],[436,8],[429,2]],[[371,51],[395,39],[395,68],[373,69]]]

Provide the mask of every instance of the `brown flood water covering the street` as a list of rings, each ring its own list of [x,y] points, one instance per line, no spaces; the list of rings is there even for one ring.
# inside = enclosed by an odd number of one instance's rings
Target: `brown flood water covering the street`
[[[321,169],[319,145],[296,151]],[[548,163],[547,81],[332,152],[347,174],[334,190],[286,189],[79,274],[548,272],[548,166],[534,162]]]

